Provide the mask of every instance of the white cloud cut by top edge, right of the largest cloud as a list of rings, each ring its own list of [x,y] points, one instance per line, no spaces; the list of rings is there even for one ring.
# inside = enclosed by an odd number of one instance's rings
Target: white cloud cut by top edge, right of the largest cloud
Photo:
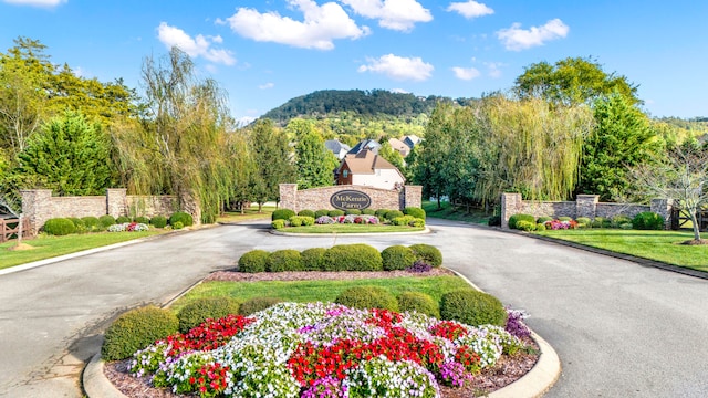
[[[341,0],[362,17],[377,19],[378,25],[397,31],[409,31],[416,22],[433,20],[430,10],[416,0]]]

